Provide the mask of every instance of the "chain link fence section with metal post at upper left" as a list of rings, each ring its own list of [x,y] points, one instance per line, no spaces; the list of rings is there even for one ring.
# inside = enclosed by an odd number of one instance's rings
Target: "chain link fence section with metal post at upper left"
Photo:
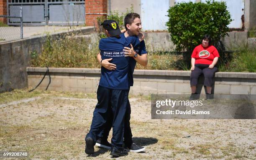
[[[0,42],[23,39],[22,7],[16,7],[9,15],[0,15],[0,18],[7,18],[9,24],[0,23]],[[10,25],[11,23],[20,25]]]

